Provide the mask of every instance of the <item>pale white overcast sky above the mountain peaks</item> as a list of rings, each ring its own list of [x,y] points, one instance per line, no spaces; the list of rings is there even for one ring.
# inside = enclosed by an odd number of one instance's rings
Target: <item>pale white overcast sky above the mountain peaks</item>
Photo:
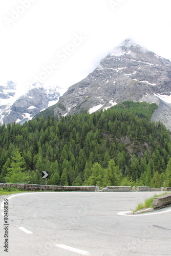
[[[0,10],[0,85],[66,90],[125,38],[171,60],[170,0],[8,0]]]

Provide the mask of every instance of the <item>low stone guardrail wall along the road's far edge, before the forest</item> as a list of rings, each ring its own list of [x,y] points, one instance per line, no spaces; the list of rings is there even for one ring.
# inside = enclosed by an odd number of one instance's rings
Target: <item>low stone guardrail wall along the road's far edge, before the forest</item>
[[[52,185],[37,185],[37,184],[12,184],[12,183],[0,183],[0,188],[16,187],[18,189],[24,189],[26,191],[100,191],[99,186],[52,186]],[[106,186],[102,188],[104,192],[131,192],[131,191],[171,191],[171,187],[150,188],[137,186],[131,188],[131,186]]]

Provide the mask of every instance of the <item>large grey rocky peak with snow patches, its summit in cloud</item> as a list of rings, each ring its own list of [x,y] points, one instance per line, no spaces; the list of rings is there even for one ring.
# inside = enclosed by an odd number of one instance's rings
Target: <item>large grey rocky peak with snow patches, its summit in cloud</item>
[[[54,116],[65,116],[91,114],[124,100],[156,102],[159,108],[153,120],[160,120],[171,129],[170,92],[170,61],[126,39],[48,110]]]

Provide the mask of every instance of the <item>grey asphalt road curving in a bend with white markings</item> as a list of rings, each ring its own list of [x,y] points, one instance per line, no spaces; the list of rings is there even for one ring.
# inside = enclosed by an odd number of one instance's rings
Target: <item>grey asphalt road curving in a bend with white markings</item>
[[[7,223],[1,197],[0,255],[171,255],[171,207],[140,216],[118,215],[154,194],[160,193],[16,194],[8,197]],[[3,248],[5,234],[8,252]]]

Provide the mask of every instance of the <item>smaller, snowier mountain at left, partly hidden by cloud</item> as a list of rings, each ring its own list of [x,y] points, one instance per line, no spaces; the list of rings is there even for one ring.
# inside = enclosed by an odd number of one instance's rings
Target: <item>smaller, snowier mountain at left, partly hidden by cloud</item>
[[[40,111],[57,103],[59,96],[59,87],[44,87],[40,83],[32,84],[22,95],[17,84],[8,81],[0,86],[0,124],[31,120]]]

